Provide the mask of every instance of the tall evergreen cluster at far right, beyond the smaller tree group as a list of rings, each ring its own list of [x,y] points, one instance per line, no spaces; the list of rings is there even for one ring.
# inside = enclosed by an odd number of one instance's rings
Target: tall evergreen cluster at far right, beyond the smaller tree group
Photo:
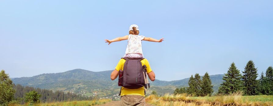
[[[242,74],[233,62],[228,68],[228,72],[223,77],[218,93],[232,94],[237,91],[243,91],[244,95],[273,95],[273,68],[269,66],[258,77],[258,70],[252,60],[248,61]]]

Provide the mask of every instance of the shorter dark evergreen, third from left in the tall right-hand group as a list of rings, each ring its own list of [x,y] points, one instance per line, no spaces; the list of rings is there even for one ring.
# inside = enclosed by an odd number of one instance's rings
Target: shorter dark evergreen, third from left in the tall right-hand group
[[[259,79],[259,92],[260,94],[268,95],[270,93],[270,84],[267,77],[264,77],[264,72],[261,73],[261,77]]]

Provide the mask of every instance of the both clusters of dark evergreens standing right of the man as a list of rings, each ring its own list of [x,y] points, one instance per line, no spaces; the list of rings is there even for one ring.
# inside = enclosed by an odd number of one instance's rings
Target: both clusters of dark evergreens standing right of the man
[[[232,94],[238,91],[244,92],[244,95],[273,95],[273,68],[269,66],[258,78],[258,72],[252,60],[248,61],[242,74],[232,62],[228,72],[223,76],[223,83],[218,89],[217,94]],[[192,96],[211,96],[213,85],[206,72],[202,80],[199,74],[191,76],[188,87],[176,88],[174,94],[190,94]]]

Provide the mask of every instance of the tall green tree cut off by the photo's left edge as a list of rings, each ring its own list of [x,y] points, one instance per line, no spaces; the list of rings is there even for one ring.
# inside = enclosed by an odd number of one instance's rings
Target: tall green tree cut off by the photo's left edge
[[[9,75],[5,71],[0,72],[0,106],[7,106],[14,99],[13,84]]]

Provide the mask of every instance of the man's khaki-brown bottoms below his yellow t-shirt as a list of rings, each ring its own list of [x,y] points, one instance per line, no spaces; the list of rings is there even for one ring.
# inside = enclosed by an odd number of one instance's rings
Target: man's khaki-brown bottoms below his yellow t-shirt
[[[121,96],[120,106],[145,106],[145,97],[140,95]]]

